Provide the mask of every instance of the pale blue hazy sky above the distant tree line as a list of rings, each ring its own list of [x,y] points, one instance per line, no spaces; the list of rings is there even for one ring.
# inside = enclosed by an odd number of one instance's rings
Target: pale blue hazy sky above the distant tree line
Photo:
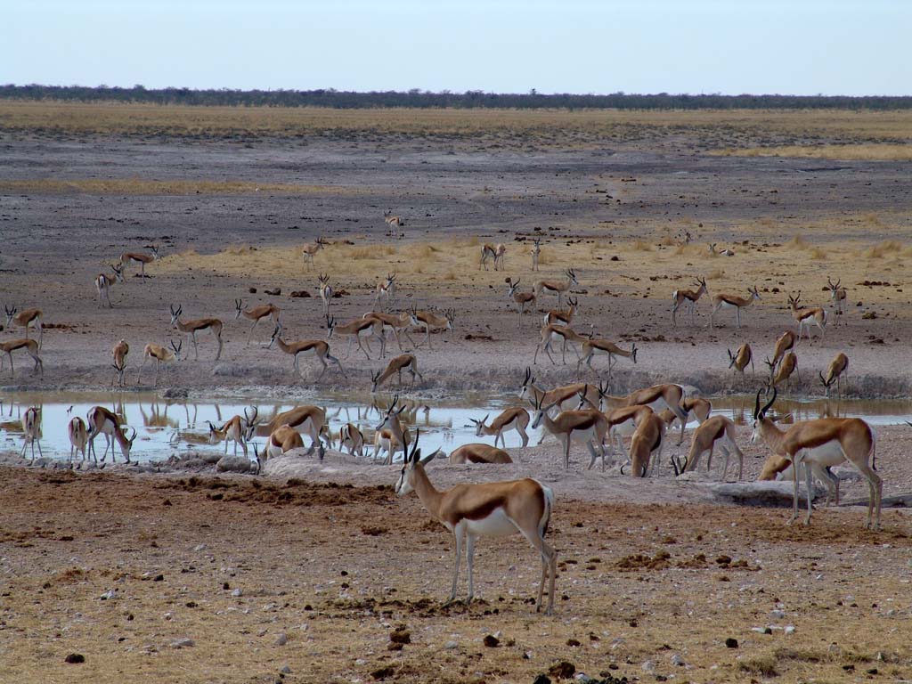
[[[910,95],[906,0],[0,0],[0,82]]]

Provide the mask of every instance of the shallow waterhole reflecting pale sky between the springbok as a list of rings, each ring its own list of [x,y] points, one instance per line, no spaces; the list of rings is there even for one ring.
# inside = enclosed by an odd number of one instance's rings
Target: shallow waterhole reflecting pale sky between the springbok
[[[389,397],[383,398],[389,401]],[[371,397],[363,394],[310,394],[297,401],[290,399],[263,399],[255,397],[234,397],[226,399],[161,399],[155,394],[119,392],[21,392],[7,394],[2,398],[0,417],[0,450],[20,451],[22,449],[21,418],[30,406],[42,409],[41,448],[45,456],[58,459],[69,458],[69,437],[67,424],[74,416],[85,419],[88,409],[104,406],[126,419],[126,424],[137,430],[137,439],[130,455],[132,460],[148,461],[166,459],[172,453],[184,451],[212,451],[223,453],[224,444],[209,444],[207,420],[221,425],[234,415],[244,415],[244,409],[256,406],[259,419],[270,420],[276,413],[302,404],[324,406],[330,419],[334,437],[342,423],[351,421],[366,433],[372,432],[379,418],[374,409],[368,409]],[[441,448],[450,452],[462,444],[481,441],[493,443],[493,437],[475,436],[470,419],[480,420],[491,417],[506,406],[516,405],[514,394],[455,393],[445,398],[422,400],[430,410],[419,411],[415,425],[421,430],[422,451],[428,453]],[[754,407],[754,397],[733,396],[712,399],[714,413],[729,416],[737,423],[748,423]],[[900,400],[845,400],[779,399],[776,402],[779,413],[791,413],[793,420],[811,420],[824,416],[864,418],[872,425],[895,425],[912,420],[912,401]],[[786,421],[788,422],[788,421]],[[535,444],[541,430],[528,430],[530,444]],[[508,448],[522,445],[515,432],[506,435]],[[264,438],[255,440],[261,446]],[[305,442],[309,443],[307,438]],[[104,438],[97,440],[96,449],[100,457],[104,450]],[[234,444],[228,447],[233,452]],[[238,450],[240,453],[241,451]],[[28,455],[28,454],[26,454]],[[122,460],[119,449],[118,460]],[[251,451],[253,456],[253,451]]]

